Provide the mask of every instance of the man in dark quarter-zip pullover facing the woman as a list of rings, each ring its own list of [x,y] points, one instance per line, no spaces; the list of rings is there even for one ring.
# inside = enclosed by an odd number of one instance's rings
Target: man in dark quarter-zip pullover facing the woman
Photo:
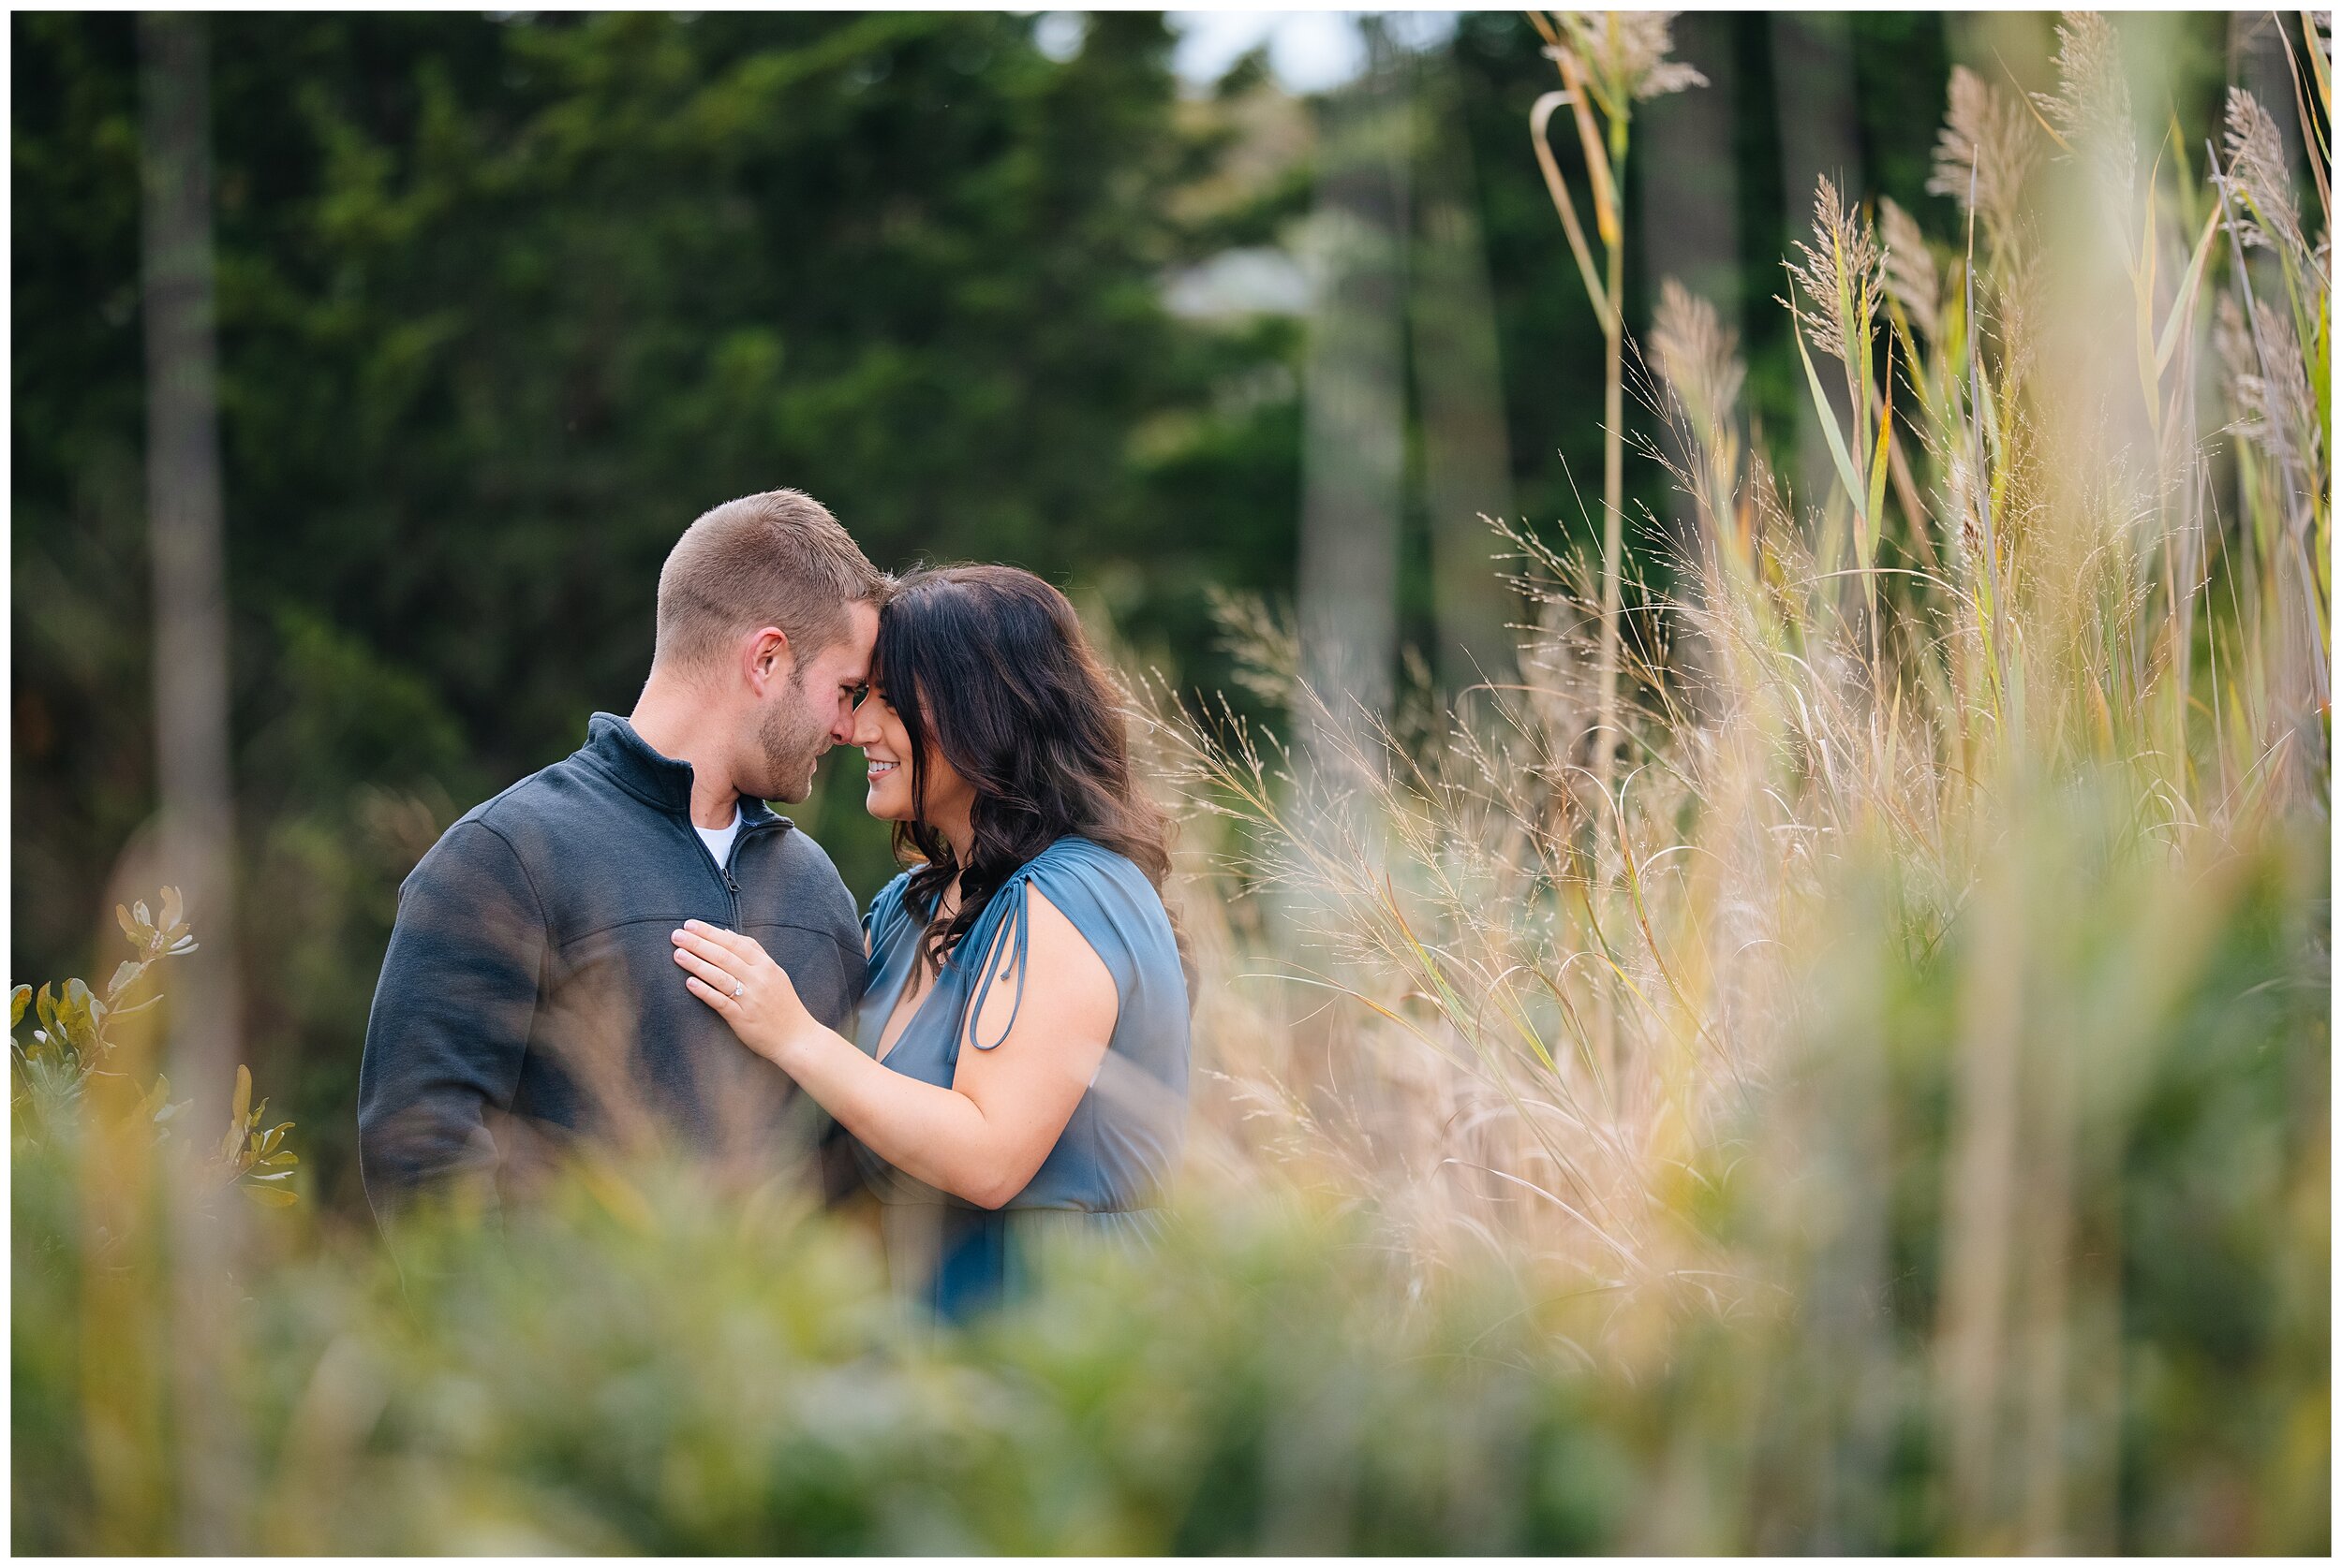
[[[883,597],[794,489],[684,531],[632,716],[595,714],[581,751],[466,812],[398,889],[358,1072],[377,1215],[443,1184],[494,1201],[574,1135],[803,1154],[789,1081],[684,990],[667,934],[745,931],[822,1023],[845,1020],[855,903],[763,803],[803,800],[852,735]]]

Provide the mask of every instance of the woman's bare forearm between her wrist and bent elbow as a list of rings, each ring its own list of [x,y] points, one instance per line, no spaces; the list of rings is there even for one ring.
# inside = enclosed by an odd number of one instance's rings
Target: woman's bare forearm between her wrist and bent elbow
[[[799,1034],[775,1060],[848,1133],[904,1175],[981,1208],[1000,1208],[1023,1189],[1023,1180],[1007,1184],[1012,1172],[998,1130],[960,1091],[906,1079],[822,1027]]]

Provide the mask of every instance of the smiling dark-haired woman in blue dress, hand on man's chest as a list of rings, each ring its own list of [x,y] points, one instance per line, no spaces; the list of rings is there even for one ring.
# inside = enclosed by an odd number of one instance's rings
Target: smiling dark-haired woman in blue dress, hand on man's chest
[[[888,1266],[960,1318],[1045,1231],[1148,1233],[1187,1112],[1166,828],[1073,606],[1028,571],[904,578],[855,716],[911,864],[862,922],[855,1039],[747,936],[691,922],[674,962],[845,1126]]]

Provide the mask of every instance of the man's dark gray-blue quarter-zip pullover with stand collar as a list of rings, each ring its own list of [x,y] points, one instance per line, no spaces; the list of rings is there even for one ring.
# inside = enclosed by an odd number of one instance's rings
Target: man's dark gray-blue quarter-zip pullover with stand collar
[[[815,1018],[845,1025],[864,960],[836,866],[745,798],[719,866],[691,828],[691,763],[625,718],[595,714],[583,749],[447,828],[398,889],[365,1025],[358,1163],[375,1212],[452,1177],[501,1189],[515,1158],[564,1135],[803,1154],[813,1123],[787,1114],[789,1079],[684,990],[670,931],[693,917],[754,936]]]

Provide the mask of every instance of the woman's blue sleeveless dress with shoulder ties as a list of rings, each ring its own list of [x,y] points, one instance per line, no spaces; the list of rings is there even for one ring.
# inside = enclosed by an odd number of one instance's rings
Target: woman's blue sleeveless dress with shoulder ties
[[[855,1018],[855,1044],[878,1055],[895,1002],[920,964],[923,910],[906,908],[911,873],[885,885],[862,924],[869,931],[869,985]],[[1108,1240],[1152,1236],[1152,1210],[1178,1163],[1187,1128],[1187,976],[1171,917],[1145,873],[1087,838],[1061,838],[1012,875],[960,938],[934,988],[895,1037],[883,1065],[951,1088],[967,1034],[991,988],[1014,988],[1023,1006],[1028,889],[1040,887],[1115,978],[1119,1009],[1105,1058],[1056,1147],[1021,1194],[998,1210],[977,1208],[911,1177],[855,1140],[855,1163],[881,1203],[888,1268],[913,1299],[944,1318],[965,1318],[1014,1292],[1047,1233]],[[1007,931],[1005,967],[977,964]],[[960,955],[967,962],[958,962]],[[998,1025],[979,1051],[998,1048],[1014,1027]]]

